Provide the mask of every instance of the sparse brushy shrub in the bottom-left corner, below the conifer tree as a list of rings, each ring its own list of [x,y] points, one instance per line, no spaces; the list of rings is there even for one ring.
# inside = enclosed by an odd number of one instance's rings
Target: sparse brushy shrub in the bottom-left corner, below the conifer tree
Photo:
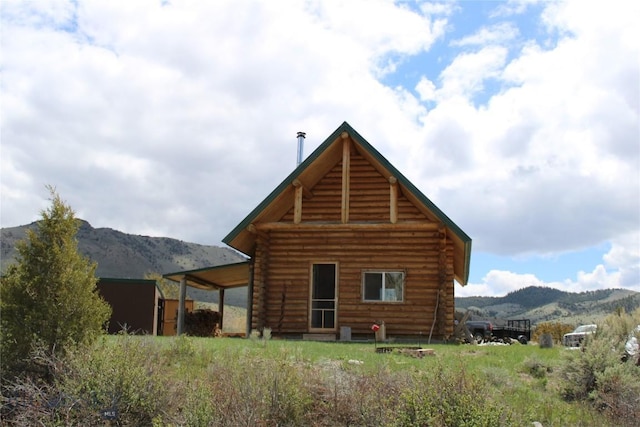
[[[5,399],[19,395],[25,403],[3,415],[17,425],[99,425],[109,419],[151,425],[170,399],[156,347],[150,339],[120,336],[64,359],[51,357],[50,383],[18,378],[3,389]]]

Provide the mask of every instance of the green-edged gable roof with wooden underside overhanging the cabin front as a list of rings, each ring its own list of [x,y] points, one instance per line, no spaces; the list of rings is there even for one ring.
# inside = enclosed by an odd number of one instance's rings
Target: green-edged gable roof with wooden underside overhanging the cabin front
[[[347,122],[342,123],[222,241],[240,252],[251,255],[255,236],[247,230],[247,227],[257,222],[278,221],[293,206],[292,183],[294,181],[301,182],[306,188],[313,188],[342,159],[341,135],[345,132],[359,154],[366,158],[378,172],[385,178],[395,177],[402,193],[414,205],[432,221],[444,224],[447,237],[454,242],[454,276],[461,285],[466,285],[469,279],[471,238]]]

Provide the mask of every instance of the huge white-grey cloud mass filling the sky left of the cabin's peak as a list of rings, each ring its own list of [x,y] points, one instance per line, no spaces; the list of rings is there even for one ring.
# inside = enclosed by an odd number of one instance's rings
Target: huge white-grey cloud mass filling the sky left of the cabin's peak
[[[3,199],[25,193],[11,191],[24,185],[9,182],[13,169],[30,176],[31,203],[50,183],[96,225],[145,222],[150,234],[216,244],[295,166],[296,131],[308,154],[343,120],[392,134],[411,120],[403,109],[420,109],[377,81],[378,66],[441,30],[390,2],[366,5],[357,20],[352,3],[3,10]],[[4,202],[3,226],[24,223],[12,207],[25,204]],[[202,209],[199,220],[173,223],[174,203]]]

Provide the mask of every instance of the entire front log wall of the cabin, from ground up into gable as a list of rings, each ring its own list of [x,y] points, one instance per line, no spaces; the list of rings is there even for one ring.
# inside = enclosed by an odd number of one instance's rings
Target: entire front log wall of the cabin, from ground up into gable
[[[397,180],[344,144],[342,160],[304,196],[301,183],[292,183],[296,202],[277,224],[252,225],[260,230],[252,328],[309,332],[312,265],[335,262],[336,332],[349,326],[353,334],[370,334],[373,322],[384,321],[388,336],[446,338],[454,327],[453,242],[435,223],[421,227],[430,220]],[[364,302],[365,270],[404,271],[404,301]]]

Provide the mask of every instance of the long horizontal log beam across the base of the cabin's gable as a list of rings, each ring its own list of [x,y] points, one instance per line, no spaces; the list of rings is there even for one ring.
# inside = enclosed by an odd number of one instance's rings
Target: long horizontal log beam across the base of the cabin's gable
[[[362,230],[428,230],[437,231],[439,224],[436,222],[399,222],[391,224],[388,222],[376,222],[376,223],[351,223],[342,224],[338,222],[322,222],[322,223],[300,223],[292,224],[287,222],[263,222],[255,224],[256,229],[259,231],[270,230],[291,230],[291,231],[362,231]]]

